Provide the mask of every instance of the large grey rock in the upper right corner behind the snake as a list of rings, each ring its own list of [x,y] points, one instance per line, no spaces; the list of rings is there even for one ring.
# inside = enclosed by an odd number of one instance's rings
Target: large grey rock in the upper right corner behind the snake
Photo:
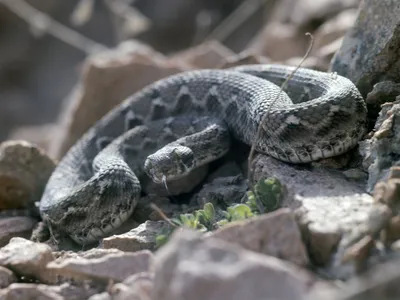
[[[336,53],[331,70],[353,81],[363,96],[375,83],[400,77],[400,6],[397,0],[364,0]]]

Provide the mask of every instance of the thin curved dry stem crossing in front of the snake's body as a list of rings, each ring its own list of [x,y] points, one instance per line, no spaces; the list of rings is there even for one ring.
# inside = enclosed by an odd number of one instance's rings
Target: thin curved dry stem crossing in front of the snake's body
[[[253,160],[254,157],[254,152],[255,152],[255,148],[256,148],[256,140],[260,137],[261,134],[261,130],[262,130],[262,124],[264,124],[264,122],[267,120],[267,118],[269,117],[269,114],[271,112],[271,108],[272,106],[275,104],[275,102],[278,100],[279,96],[282,94],[283,90],[286,88],[286,85],[288,84],[289,80],[293,77],[293,75],[297,72],[297,70],[301,67],[301,65],[304,63],[304,61],[307,59],[307,57],[310,55],[311,49],[314,45],[314,37],[311,33],[306,32],[306,35],[308,35],[310,37],[310,45],[308,46],[307,52],[306,54],[303,56],[302,60],[300,61],[300,63],[297,65],[297,67],[290,73],[290,75],[288,76],[288,78],[286,78],[286,80],[282,83],[281,88],[279,90],[279,93],[276,95],[275,99],[271,102],[271,105],[268,107],[267,112],[265,113],[265,115],[262,117],[260,124],[258,125],[257,128],[257,133],[256,136],[254,138],[254,142],[251,145],[250,148],[250,153],[249,153],[249,158],[248,158],[248,181],[249,181],[249,185],[250,185],[250,189],[253,192],[254,196],[257,199],[257,195],[254,191],[254,186],[253,186],[253,181],[252,181],[252,168],[251,168],[251,162]]]

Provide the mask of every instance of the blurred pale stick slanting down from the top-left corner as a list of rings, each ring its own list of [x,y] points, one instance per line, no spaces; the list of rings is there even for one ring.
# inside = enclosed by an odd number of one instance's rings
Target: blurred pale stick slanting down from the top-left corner
[[[47,32],[68,45],[82,50],[86,54],[93,54],[107,49],[106,46],[71,30],[23,0],[0,0],[0,3],[26,21],[32,28]]]

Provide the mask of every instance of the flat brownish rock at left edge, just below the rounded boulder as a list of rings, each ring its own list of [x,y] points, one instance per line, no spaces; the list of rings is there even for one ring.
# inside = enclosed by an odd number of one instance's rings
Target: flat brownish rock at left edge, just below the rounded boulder
[[[29,239],[37,221],[30,217],[0,219],[0,247],[7,245],[13,237]]]

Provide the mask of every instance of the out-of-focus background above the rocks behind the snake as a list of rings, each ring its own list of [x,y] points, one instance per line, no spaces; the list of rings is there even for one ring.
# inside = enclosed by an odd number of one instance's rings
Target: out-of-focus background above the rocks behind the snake
[[[326,69],[354,22],[358,4],[359,0],[0,0],[0,141],[40,140],[68,105],[85,59],[122,41],[135,39],[172,56],[216,40],[234,53],[251,49],[268,61],[287,62],[304,55],[309,45],[304,33],[311,32],[311,58],[319,59],[313,66]]]

